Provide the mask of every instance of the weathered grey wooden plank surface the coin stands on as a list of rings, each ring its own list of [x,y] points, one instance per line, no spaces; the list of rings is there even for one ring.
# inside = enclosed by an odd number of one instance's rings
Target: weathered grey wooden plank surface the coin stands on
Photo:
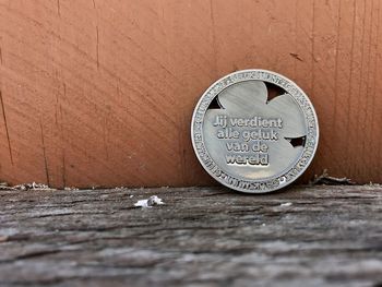
[[[381,286],[381,187],[0,191],[0,285]]]

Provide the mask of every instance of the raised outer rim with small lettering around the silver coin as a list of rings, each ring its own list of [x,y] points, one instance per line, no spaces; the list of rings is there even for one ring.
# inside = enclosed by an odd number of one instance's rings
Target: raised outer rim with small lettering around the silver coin
[[[225,88],[230,85],[258,80],[275,84],[284,88],[295,99],[301,108],[307,125],[306,145],[296,164],[286,169],[282,175],[266,179],[242,180],[222,170],[222,168],[210,156],[205,148],[203,140],[204,116],[211,101]],[[241,70],[223,76],[213,83],[199,99],[191,120],[191,140],[196,157],[203,168],[215,180],[222,184],[246,193],[266,193],[275,191],[294,182],[299,178],[313,160],[314,154],[319,145],[319,122],[312,103],[307,94],[290,79],[276,72],[262,69]]]

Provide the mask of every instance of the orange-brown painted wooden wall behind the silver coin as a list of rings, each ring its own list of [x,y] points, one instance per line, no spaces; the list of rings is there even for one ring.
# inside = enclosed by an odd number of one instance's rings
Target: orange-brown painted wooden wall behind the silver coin
[[[285,74],[312,99],[303,177],[382,181],[379,0],[0,0],[0,179],[211,184],[190,120],[211,83]]]

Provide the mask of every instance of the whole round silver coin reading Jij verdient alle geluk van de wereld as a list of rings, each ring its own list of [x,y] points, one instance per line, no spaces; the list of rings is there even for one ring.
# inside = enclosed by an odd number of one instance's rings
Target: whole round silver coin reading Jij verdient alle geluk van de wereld
[[[228,74],[203,94],[191,137],[204,169],[242,192],[264,193],[296,180],[311,163],[319,125],[308,96],[265,70]]]

